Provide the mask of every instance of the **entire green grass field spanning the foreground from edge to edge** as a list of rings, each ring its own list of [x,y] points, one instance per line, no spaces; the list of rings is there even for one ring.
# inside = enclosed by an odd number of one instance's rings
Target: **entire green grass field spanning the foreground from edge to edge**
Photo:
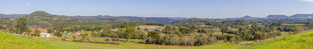
[[[151,44],[138,44],[136,42],[120,42],[121,45],[93,44],[82,42],[67,42],[60,40],[47,40],[35,37],[19,36],[0,32],[0,49],[310,49],[313,48],[313,32],[305,32],[297,35],[289,35],[277,38],[267,43],[255,43],[238,45],[223,43],[209,46],[177,47]],[[71,35],[64,35],[71,38]],[[44,37],[43,37],[44,38]],[[108,37],[101,37],[106,39]],[[121,40],[126,40],[120,38]],[[99,40],[95,38],[95,40]],[[132,39],[136,41],[136,39]],[[223,41],[220,41],[223,42]],[[220,43],[219,42],[219,43]],[[249,42],[249,41],[247,41]],[[244,42],[241,42],[244,43]]]

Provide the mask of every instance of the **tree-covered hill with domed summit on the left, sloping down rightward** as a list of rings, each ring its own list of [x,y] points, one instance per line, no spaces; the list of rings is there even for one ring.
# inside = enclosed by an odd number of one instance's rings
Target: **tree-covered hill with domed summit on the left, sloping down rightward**
[[[47,12],[36,11],[29,15],[23,16],[27,18],[27,26],[32,27],[59,27],[64,25],[106,25],[108,23],[115,24],[125,22],[121,19],[86,19],[75,18],[69,16],[51,15]],[[11,20],[10,20],[11,19]],[[114,21],[115,20],[115,21]],[[10,25],[14,21],[14,18],[1,18],[0,25]]]

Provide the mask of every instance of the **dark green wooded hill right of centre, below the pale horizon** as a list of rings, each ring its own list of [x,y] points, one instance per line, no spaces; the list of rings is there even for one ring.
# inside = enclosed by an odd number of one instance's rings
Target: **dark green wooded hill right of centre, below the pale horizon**
[[[201,18],[192,18],[192,19],[182,19],[172,22],[174,25],[199,25],[199,26],[213,26],[213,27],[222,27],[222,26],[233,26],[239,27],[242,25],[250,25],[252,23],[259,23],[252,20],[224,20],[224,19],[201,19]]]

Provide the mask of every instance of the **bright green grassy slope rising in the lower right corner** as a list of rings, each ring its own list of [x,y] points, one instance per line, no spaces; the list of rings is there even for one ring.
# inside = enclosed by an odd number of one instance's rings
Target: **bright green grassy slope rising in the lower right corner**
[[[311,49],[313,48],[313,32],[304,32],[296,35],[285,36],[236,49]]]

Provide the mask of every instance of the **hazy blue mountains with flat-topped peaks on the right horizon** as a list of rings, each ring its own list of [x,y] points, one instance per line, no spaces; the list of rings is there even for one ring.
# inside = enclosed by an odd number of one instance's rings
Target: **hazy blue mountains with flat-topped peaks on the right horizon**
[[[290,16],[289,18],[313,18],[313,14],[295,14]],[[250,17],[250,16],[244,16],[244,17],[237,17],[237,18],[218,18],[218,19],[231,19],[231,20],[237,20],[237,19],[245,19],[245,20],[251,20],[251,19],[265,19],[265,18],[287,18],[288,16],[285,15],[269,15],[267,17]]]

